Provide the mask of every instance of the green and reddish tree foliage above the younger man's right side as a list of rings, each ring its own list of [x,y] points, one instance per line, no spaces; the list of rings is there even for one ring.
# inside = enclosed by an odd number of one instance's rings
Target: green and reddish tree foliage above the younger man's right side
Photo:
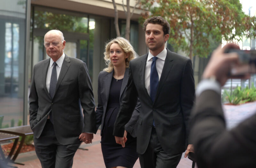
[[[255,17],[242,11],[239,0],[142,0],[146,19],[162,16],[171,26],[169,43],[174,49],[206,57],[211,45],[209,37],[221,40],[241,39],[242,35],[255,37]]]

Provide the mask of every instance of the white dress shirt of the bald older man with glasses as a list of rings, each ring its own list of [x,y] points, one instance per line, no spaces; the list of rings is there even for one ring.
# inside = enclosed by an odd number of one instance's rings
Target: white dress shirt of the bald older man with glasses
[[[60,69],[61,69],[62,63],[64,61],[64,58],[65,58],[65,54],[63,52],[63,54],[60,56],[60,58],[56,61],[56,63],[57,63],[57,65],[56,65],[57,81],[58,81],[58,78],[59,78],[59,75],[60,75]],[[46,88],[47,88],[48,92],[49,92],[49,89],[50,89],[53,62],[54,61],[51,58],[50,59],[50,64],[49,64],[49,67],[48,67],[48,71],[47,71],[47,76],[46,76]]]

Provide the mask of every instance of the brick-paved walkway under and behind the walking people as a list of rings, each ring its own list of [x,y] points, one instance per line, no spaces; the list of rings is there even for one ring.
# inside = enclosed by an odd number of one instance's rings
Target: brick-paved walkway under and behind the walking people
[[[233,128],[239,122],[250,117],[256,111],[256,102],[246,103],[244,105],[232,106],[224,105],[223,106],[225,116],[227,118],[227,127]],[[81,144],[80,148],[88,149],[82,150],[78,149],[75,157],[73,168],[104,168],[104,161],[100,148],[100,130],[94,135],[93,143],[91,144]],[[184,153],[183,153],[184,155]],[[27,152],[20,154],[16,160],[18,163],[23,163],[25,165],[14,164],[18,168],[40,168],[40,162],[36,157],[36,153]],[[192,161],[188,158],[182,156],[179,165],[177,168],[190,168]],[[139,160],[134,165],[134,168],[140,168]]]

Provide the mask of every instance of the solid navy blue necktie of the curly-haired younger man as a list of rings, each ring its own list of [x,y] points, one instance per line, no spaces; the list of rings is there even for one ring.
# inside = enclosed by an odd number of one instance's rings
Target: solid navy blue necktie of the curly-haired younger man
[[[154,103],[156,98],[156,90],[159,83],[159,77],[156,70],[156,59],[157,57],[153,57],[153,61],[151,63],[151,70],[150,70],[150,98],[152,102]],[[153,126],[155,127],[155,121],[153,120]]]

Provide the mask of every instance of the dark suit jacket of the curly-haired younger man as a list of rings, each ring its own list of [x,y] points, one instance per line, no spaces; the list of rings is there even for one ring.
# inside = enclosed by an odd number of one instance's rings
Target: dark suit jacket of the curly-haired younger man
[[[156,98],[152,102],[144,81],[147,58],[148,54],[130,61],[127,90],[116,118],[114,135],[124,135],[124,125],[131,118],[139,97],[137,152],[143,154],[146,151],[154,119],[156,134],[164,151],[182,153],[187,147],[188,118],[195,94],[191,60],[167,49]]]

